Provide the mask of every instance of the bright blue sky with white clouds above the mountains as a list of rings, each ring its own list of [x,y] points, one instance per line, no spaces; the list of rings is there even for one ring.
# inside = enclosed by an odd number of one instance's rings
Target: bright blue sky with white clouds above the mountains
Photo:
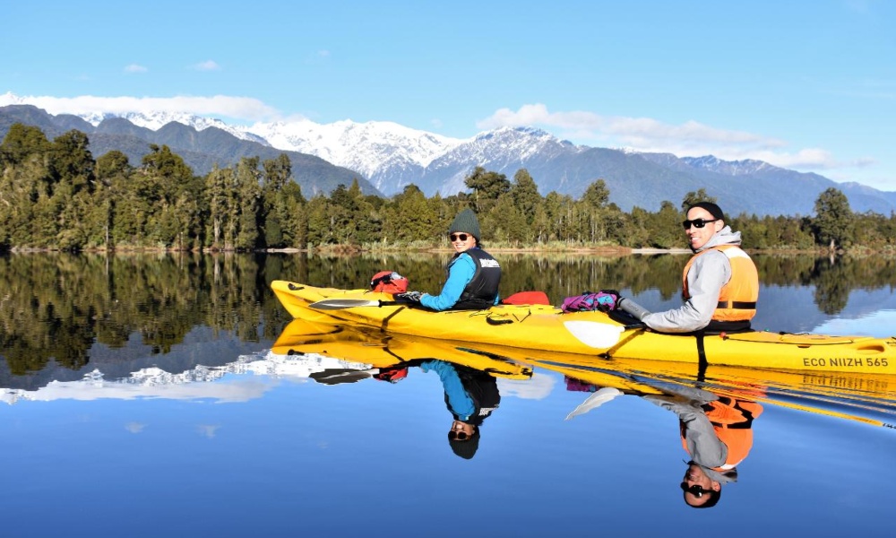
[[[0,94],[51,113],[538,126],[896,191],[896,3],[7,2]]]

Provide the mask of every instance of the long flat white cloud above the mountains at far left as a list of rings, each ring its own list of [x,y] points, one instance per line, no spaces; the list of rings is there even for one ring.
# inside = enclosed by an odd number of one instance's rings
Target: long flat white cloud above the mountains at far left
[[[94,112],[183,112],[196,116],[224,116],[251,121],[279,117],[275,108],[249,97],[215,95],[211,97],[78,97],[29,96],[21,102],[47,110],[50,114],[90,114]]]

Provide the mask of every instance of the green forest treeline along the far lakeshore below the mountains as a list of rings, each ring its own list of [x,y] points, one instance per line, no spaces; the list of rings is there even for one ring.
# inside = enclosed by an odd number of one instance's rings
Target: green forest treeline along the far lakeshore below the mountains
[[[35,126],[15,124],[0,143],[0,250],[224,250],[269,248],[447,247],[445,230],[464,207],[478,213],[489,247],[685,247],[680,222],[704,189],[657,212],[630,213],[609,202],[596,178],[580,198],[540,195],[526,169],[513,179],[478,167],[469,193],[427,197],[415,185],[383,198],[358,182],[306,198],[289,157],[236,165],[196,176],[168,146],[150,145],[139,166],[124,153],[94,159],[86,134],[52,141]],[[724,208],[723,208],[724,209]],[[728,215],[754,249],[892,250],[896,216],[854,213],[836,188],[815,202],[813,216]]]

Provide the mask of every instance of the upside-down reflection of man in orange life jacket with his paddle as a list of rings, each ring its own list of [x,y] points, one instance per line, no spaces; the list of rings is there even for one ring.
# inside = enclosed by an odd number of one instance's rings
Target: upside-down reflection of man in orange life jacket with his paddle
[[[694,508],[714,507],[721,498],[722,486],[737,482],[737,465],[753,447],[753,421],[762,414],[762,404],[747,393],[717,395],[693,386],[663,384],[662,394],[639,394],[588,386],[573,378],[567,378],[566,386],[567,390],[592,393],[567,419],[623,394],[639,395],[676,413],[682,447],[690,456],[679,487],[685,503]]]

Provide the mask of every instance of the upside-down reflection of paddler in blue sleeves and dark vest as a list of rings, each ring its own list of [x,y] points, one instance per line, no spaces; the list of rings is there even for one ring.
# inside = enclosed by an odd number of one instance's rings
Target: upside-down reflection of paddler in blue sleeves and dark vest
[[[445,405],[453,417],[448,445],[457,456],[471,459],[479,447],[479,427],[501,403],[497,380],[482,370],[444,360],[424,360],[419,366],[442,380]]]

